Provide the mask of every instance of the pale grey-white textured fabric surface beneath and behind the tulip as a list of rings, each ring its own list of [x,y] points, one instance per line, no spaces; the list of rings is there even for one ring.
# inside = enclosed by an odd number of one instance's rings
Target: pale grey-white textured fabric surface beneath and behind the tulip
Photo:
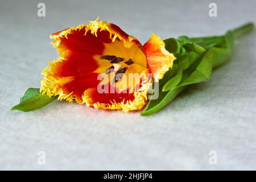
[[[0,1],[0,169],[256,169],[255,31],[233,59],[150,117],[54,102],[30,113],[9,111],[42,68],[57,58],[49,35],[97,15],[142,43],[223,34],[250,20],[251,1]],[[218,16],[209,16],[209,3]],[[38,164],[45,151],[46,164]],[[209,152],[217,152],[217,165]]]

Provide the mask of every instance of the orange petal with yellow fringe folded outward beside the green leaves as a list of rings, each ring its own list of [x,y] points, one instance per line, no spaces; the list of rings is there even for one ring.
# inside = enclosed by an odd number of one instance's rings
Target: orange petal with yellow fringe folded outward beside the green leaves
[[[176,57],[165,49],[165,43],[155,34],[151,35],[143,47],[146,52],[147,67],[153,73],[154,80],[158,82],[173,67]]]

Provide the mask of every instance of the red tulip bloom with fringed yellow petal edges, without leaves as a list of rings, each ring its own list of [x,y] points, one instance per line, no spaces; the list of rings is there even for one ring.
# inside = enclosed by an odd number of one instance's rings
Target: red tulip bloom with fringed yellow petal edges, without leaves
[[[155,81],[175,57],[152,35],[144,46],[118,26],[98,18],[50,35],[59,58],[43,69],[41,92],[97,109],[139,110]]]

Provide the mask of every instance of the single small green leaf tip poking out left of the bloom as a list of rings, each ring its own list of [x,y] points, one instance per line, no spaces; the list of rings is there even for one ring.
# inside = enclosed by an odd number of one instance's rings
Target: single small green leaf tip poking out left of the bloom
[[[11,110],[21,110],[24,112],[40,109],[57,99],[57,97],[49,97],[42,94],[37,88],[29,88],[21,98],[18,105],[15,105]]]

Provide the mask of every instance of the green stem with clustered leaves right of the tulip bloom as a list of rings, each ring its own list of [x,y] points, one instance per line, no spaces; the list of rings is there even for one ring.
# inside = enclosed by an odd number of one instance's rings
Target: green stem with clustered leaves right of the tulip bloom
[[[176,40],[171,38],[167,48],[177,53],[174,69],[169,70],[159,81],[158,99],[150,100],[141,115],[150,115],[161,110],[189,85],[208,81],[213,68],[230,60],[235,38],[240,38],[253,28],[253,23],[248,23],[227,31],[223,36],[191,39],[187,36],[180,36]],[[179,51],[176,50],[178,49],[177,41],[179,42]],[[174,45],[170,45],[171,43]]]

